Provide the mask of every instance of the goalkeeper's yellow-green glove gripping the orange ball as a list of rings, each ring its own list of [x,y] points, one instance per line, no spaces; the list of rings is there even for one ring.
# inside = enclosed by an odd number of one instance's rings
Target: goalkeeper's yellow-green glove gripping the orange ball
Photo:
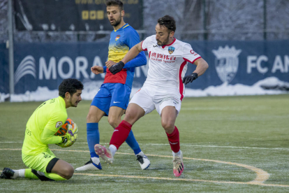
[[[73,145],[73,143],[75,143],[76,139],[77,139],[77,125],[75,123],[73,123],[73,126],[71,124],[67,124],[67,132],[64,136],[61,136],[62,141],[61,143],[57,144],[59,145],[61,148],[68,148],[71,145]]]

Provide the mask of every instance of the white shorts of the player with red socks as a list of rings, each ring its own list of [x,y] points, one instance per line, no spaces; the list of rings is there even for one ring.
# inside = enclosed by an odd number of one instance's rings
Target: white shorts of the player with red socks
[[[181,94],[177,88],[167,89],[154,86],[142,87],[133,95],[129,103],[136,103],[144,109],[144,115],[151,113],[154,109],[161,115],[165,106],[175,106],[177,115],[181,110]]]

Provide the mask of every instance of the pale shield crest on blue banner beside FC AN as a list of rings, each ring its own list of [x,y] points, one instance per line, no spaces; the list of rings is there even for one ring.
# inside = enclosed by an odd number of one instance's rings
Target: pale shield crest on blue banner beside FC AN
[[[225,48],[220,46],[218,50],[212,50],[212,52],[216,56],[215,67],[218,78],[220,78],[223,83],[230,83],[238,71],[238,55],[242,50],[236,50],[235,46],[229,48],[228,45],[225,45]]]

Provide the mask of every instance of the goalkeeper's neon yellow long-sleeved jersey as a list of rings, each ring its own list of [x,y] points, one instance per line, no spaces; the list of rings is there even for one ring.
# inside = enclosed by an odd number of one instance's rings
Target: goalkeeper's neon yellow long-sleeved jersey
[[[42,138],[45,138],[43,135],[47,133],[43,131],[50,129],[56,133],[66,122],[66,119],[66,103],[61,96],[45,101],[38,106],[27,122],[22,153],[24,155],[38,155],[40,152],[47,151],[48,144],[41,141]],[[60,136],[47,137],[56,143],[61,143]]]

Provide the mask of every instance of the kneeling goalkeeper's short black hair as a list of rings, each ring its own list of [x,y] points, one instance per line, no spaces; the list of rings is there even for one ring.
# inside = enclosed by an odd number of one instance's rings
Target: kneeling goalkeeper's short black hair
[[[59,96],[62,98],[65,97],[66,92],[69,92],[72,96],[77,90],[83,90],[83,85],[80,80],[74,78],[64,79],[58,87]]]

